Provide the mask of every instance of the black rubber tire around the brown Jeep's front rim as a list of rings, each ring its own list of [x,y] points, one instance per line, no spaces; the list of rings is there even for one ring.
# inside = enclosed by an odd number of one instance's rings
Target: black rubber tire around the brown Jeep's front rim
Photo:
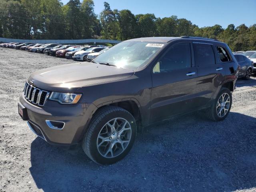
[[[123,150],[121,154],[112,158],[106,158],[100,154],[97,148],[98,134],[102,130],[102,127],[110,120],[114,118],[124,118],[131,126],[130,142]],[[113,164],[122,158],[124,158],[131,150],[137,134],[137,126],[134,117],[130,112],[117,106],[106,106],[98,110],[93,116],[84,139],[82,141],[82,148],[86,155],[98,164]]]

